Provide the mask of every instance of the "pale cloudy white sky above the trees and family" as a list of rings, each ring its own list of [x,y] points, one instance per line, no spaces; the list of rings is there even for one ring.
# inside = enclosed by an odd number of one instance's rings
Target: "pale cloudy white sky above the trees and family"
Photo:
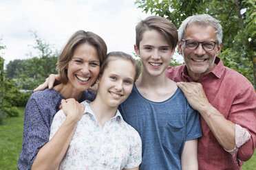
[[[134,53],[135,27],[151,16],[135,0],[0,0],[1,56],[10,60],[31,58],[35,38],[60,51],[79,29],[102,37],[109,51]]]

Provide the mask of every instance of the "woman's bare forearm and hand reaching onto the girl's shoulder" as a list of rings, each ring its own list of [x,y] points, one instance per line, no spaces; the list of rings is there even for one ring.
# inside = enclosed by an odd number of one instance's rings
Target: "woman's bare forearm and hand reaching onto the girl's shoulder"
[[[39,150],[32,169],[56,169],[70,145],[76,123],[83,115],[84,106],[74,99],[62,100],[61,105],[67,117],[56,134]]]

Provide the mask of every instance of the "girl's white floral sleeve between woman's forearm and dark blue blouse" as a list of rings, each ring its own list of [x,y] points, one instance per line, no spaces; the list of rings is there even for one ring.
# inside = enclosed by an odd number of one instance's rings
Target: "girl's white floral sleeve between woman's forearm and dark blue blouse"
[[[63,110],[58,110],[56,112],[54,119],[52,120],[52,125],[50,127],[50,136],[49,136],[49,141],[50,139],[56,134],[58,129],[61,127],[61,124],[65,121],[66,116]]]

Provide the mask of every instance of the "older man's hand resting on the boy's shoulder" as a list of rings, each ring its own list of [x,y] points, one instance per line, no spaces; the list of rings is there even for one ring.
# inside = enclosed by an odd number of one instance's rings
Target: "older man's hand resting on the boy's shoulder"
[[[202,84],[195,82],[178,82],[177,86],[182,90],[193,109],[200,112],[201,109],[209,106],[209,101],[204,93]]]

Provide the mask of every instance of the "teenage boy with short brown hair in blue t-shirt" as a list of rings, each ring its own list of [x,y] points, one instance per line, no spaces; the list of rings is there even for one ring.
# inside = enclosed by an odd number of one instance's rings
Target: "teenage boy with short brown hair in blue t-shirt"
[[[168,19],[149,16],[136,26],[134,49],[142,71],[119,110],[141,136],[143,170],[198,169],[199,114],[165,75],[177,43],[177,29]]]

